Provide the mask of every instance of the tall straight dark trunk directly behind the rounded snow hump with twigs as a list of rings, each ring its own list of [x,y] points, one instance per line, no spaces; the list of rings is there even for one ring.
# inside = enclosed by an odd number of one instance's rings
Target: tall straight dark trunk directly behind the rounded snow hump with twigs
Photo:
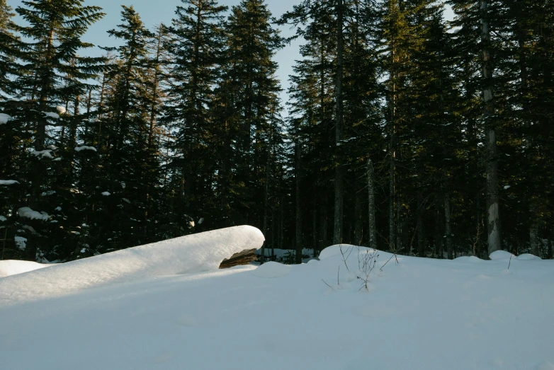
[[[337,5],[335,9],[337,11],[337,106],[335,117],[335,152],[337,156],[335,158],[335,178],[334,178],[334,228],[333,228],[333,243],[341,243],[343,233],[343,203],[344,203],[344,173],[342,168],[341,155],[339,154],[339,146],[342,141],[342,74],[343,74],[343,54],[344,54],[344,40],[343,40],[343,0],[336,0]]]

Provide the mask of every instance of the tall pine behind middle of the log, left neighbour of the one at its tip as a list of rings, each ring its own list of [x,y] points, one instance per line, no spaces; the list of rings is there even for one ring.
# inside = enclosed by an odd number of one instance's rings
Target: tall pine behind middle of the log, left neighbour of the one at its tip
[[[223,62],[223,13],[227,11],[214,0],[182,2],[167,43],[174,63],[164,115],[164,122],[175,132],[169,186],[177,194],[169,207],[175,235],[190,229],[194,219],[204,220],[195,225],[196,230],[217,225],[219,207],[212,184],[218,142],[210,106]]]

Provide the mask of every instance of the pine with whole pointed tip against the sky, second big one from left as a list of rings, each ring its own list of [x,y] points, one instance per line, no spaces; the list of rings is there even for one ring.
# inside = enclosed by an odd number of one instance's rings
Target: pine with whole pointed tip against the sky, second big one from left
[[[154,34],[132,6],[123,6],[122,23],[108,34],[123,42],[106,75],[105,127],[100,189],[103,219],[97,221],[101,250],[140,245],[154,240],[159,160],[152,148],[152,59]],[[155,68],[154,68],[155,70]],[[155,72],[153,72],[155,74]],[[109,248],[108,248],[109,247]]]

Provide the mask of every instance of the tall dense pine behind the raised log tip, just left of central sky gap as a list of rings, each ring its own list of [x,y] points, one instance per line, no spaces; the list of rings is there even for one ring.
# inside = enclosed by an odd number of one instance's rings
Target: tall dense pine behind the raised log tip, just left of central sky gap
[[[226,222],[263,224],[266,156],[277,131],[277,64],[271,59],[281,37],[261,0],[244,0],[227,21],[226,65],[217,88],[217,126],[224,127],[220,149],[220,190]],[[225,157],[225,158],[224,158]]]

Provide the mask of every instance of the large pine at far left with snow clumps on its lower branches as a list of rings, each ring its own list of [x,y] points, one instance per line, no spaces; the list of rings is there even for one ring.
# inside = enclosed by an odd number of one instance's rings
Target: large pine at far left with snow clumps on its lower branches
[[[62,239],[78,233],[80,226],[79,220],[71,218],[72,184],[60,187],[59,170],[67,163],[63,156],[55,156],[60,134],[69,123],[63,117],[65,106],[88,91],[88,81],[103,69],[102,58],[81,57],[77,52],[94,46],[81,37],[104,14],[98,6],[84,6],[82,1],[22,4],[16,11],[27,25],[13,26],[25,40],[15,55],[23,62],[16,78],[19,98],[8,102],[6,110],[21,133],[16,138],[21,150],[16,166],[23,194],[30,196],[16,200],[12,214],[20,216],[18,229],[26,230],[17,235],[28,239],[26,258],[64,259],[69,252]]]

